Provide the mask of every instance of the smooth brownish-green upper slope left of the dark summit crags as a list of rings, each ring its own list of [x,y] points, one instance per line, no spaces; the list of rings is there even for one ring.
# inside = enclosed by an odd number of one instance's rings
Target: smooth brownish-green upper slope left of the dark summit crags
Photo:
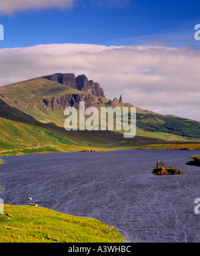
[[[9,100],[41,103],[44,98],[55,98],[67,94],[83,94],[69,86],[52,82],[44,78],[35,78],[23,82],[2,86],[0,93],[7,96]]]

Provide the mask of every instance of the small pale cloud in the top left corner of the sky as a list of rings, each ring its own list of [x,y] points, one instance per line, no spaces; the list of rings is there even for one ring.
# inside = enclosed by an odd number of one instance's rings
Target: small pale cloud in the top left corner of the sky
[[[76,0],[1,0],[0,13],[13,14],[29,9],[47,9],[52,7],[69,8]]]

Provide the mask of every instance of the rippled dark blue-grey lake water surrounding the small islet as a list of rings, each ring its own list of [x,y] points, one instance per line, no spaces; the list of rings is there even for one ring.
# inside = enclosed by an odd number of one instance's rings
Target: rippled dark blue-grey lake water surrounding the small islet
[[[199,151],[118,150],[1,157],[0,197],[115,225],[130,242],[200,242]],[[183,175],[151,174],[157,160]]]

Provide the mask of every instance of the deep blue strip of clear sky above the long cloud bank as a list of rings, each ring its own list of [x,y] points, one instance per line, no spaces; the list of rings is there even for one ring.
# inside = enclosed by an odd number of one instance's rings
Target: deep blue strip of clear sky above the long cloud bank
[[[193,37],[194,26],[200,23],[200,3],[196,0],[77,0],[67,8],[46,5],[24,10],[23,1],[21,9],[21,0],[18,2],[16,10],[7,7],[2,11],[0,6],[0,23],[5,29],[1,48],[48,43],[133,45],[153,41],[172,47],[189,45],[197,49],[200,45]]]

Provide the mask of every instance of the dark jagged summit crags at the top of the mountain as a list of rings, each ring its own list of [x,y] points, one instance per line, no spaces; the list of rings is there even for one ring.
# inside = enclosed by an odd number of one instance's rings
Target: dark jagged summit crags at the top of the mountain
[[[93,82],[93,80],[89,81],[85,75],[77,76],[77,78],[75,78],[74,74],[57,73],[50,76],[43,76],[42,78],[57,82],[59,84],[66,84],[66,86],[70,86],[71,88],[87,94],[92,94],[99,98],[105,98],[105,94],[100,85]]]

